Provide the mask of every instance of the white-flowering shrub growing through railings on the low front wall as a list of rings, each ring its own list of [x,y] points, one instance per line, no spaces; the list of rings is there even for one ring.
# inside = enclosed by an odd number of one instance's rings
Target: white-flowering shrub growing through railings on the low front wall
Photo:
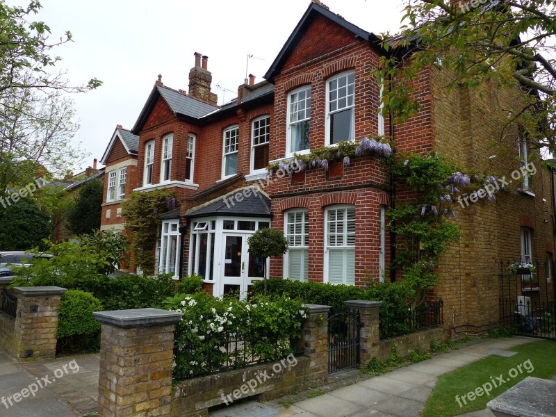
[[[183,313],[174,332],[174,377],[188,378],[293,353],[306,310],[288,297],[247,301],[206,293],[168,297],[165,306]]]

